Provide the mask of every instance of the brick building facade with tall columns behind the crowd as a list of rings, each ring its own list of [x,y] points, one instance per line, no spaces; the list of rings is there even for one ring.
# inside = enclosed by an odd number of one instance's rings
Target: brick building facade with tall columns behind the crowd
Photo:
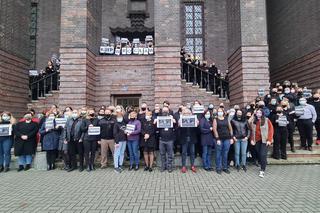
[[[186,35],[186,5],[201,10],[198,40]],[[132,10],[142,10],[144,26],[154,29],[155,54],[99,55],[101,38],[129,28]],[[54,53],[62,62],[60,90],[33,102],[39,109],[124,99],[169,100],[174,108],[195,98],[218,104],[218,97],[181,80],[179,51],[190,41],[201,42],[194,48],[209,63],[229,70],[231,104],[285,79],[315,89],[319,14],[317,0],[0,0],[0,110],[26,109],[28,70],[44,69]]]

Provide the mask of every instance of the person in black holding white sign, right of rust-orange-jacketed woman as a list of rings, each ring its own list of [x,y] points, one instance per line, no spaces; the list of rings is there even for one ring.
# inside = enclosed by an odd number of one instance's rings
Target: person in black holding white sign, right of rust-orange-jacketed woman
[[[281,106],[277,106],[276,115],[270,118],[274,127],[273,158],[287,159],[287,140],[289,119]]]

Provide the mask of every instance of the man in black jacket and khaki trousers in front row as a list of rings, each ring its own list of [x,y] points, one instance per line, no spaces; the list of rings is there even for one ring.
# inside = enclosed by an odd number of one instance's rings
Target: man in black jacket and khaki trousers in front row
[[[107,167],[108,163],[108,152],[109,150],[114,155],[114,136],[113,136],[113,126],[115,124],[115,119],[111,115],[111,111],[106,109],[99,112],[99,126],[101,128],[100,138],[98,144],[101,145],[101,169]]]

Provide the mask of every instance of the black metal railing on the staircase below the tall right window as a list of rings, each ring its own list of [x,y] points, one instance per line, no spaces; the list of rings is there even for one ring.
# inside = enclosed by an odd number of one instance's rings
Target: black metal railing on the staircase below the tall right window
[[[206,68],[182,60],[181,78],[213,95],[219,95],[219,98],[229,98],[229,82],[218,73],[211,73]]]

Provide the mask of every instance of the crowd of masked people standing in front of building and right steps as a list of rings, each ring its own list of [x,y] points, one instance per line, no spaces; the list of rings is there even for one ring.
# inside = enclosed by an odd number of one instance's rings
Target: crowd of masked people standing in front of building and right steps
[[[38,143],[46,152],[47,169],[56,168],[61,156],[64,169],[68,172],[95,170],[96,153],[100,153],[100,167],[108,166],[108,154],[113,157],[117,173],[124,170],[127,152],[129,170],[139,170],[144,159],[144,170],[152,172],[155,151],[159,150],[161,172],[174,170],[174,154],[181,153],[181,172],[186,173],[187,158],[190,169],[197,172],[196,156],[202,157],[206,171],[215,170],[229,174],[230,165],[237,171],[247,171],[247,158],[260,166],[260,177],[264,177],[267,166],[268,147],[273,144],[273,158],[287,159],[286,144],[295,151],[293,132],[297,125],[301,149],[312,151],[313,126],[317,131],[317,145],[320,144],[320,90],[313,96],[290,82],[277,84],[265,95],[263,90],[243,109],[235,105],[226,109],[224,104],[209,104],[203,112],[195,114],[200,101],[181,104],[173,112],[168,101],[155,104],[151,110],[146,103],[139,109],[122,106],[101,106],[99,110],[83,107],[66,107],[60,112],[53,105],[37,117],[33,110],[24,114],[18,122],[10,112],[0,115],[0,124],[11,124],[13,132],[0,136],[0,172],[10,168],[11,148],[18,156],[18,171],[28,170],[36,153]],[[195,116],[195,126],[185,127],[182,118]],[[159,116],[169,118],[171,127],[161,128]],[[66,123],[58,125],[58,118]],[[47,122],[52,121],[52,123]],[[129,131],[129,126],[131,130]],[[94,127],[99,127],[95,132]],[[215,153],[215,166],[212,156]],[[110,164],[110,163],[109,163]],[[214,169],[215,167],[215,169]]]

